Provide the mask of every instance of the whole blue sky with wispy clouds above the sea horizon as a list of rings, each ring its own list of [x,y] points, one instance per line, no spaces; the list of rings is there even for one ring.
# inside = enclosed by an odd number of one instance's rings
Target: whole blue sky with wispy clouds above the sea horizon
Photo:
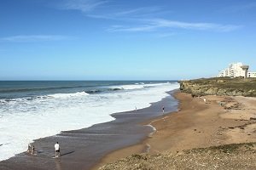
[[[0,80],[180,80],[256,71],[254,0],[2,0]]]

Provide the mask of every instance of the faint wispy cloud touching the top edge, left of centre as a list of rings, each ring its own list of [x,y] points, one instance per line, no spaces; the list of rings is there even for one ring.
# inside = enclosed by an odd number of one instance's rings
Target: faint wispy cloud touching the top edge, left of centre
[[[85,12],[90,12],[95,8],[98,8],[105,3],[108,3],[108,1],[107,0],[65,0],[64,3],[61,3],[59,8],[79,10],[85,13]]]

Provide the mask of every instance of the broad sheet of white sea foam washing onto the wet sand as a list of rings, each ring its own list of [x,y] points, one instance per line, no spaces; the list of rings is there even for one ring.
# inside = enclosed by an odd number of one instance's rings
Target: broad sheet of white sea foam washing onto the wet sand
[[[127,85],[122,87],[129,90],[104,94],[51,94],[3,102],[0,106],[0,161],[25,151],[33,139],[111,121],[110,114],[114,112],[131,111],[134,106],[137,109],[148,107],[166,97],[166,91],[178,88],[176,83],[145,86],[148,85]]]

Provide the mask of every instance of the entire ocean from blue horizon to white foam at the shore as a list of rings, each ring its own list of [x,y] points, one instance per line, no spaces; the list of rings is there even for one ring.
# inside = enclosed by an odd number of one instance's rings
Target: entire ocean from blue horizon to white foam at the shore
[[[113,120],[146,108],[179,88],[177,81],[2,81],[0,161],[34,139]]]

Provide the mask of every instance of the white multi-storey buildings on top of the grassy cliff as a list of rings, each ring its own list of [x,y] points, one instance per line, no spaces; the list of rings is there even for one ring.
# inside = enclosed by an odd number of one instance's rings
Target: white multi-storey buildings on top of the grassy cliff
[[[256,72],[248,72],[249,65],[241,62],[230,64],[228,68],[219,71],[218,77],[256,77]]]

